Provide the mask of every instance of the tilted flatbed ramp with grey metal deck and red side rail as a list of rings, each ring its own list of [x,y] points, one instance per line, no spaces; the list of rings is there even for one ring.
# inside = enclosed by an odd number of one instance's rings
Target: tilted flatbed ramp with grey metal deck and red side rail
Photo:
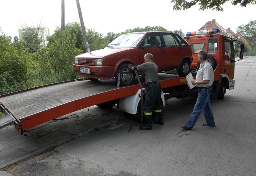
[[[173,78],[174,80],[170,81]],[[173,74],[159,74],[159,79],[162,88],[179,85],[180,80],[184,80]],[[145,87],[145,84],[142,84],[142,87]],[[80,79],[4,94],[0,96],[0,107],[6,115],[0,118],[0,128],[15,123],[18,132],[23,134],[29,128],[65,114],[135,95],[139,89],[138,81],[132,86],[116,88],[114,79]]]

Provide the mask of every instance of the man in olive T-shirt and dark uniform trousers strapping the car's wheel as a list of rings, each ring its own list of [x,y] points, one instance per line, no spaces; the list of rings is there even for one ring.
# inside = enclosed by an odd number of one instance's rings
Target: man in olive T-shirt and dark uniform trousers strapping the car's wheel
[[[161,109],[162,88],[158,78],[158,67],[153,62],[153,55],[150,53],[145,54],[144,61],[145,63],[141,65],[131,65],[129,68],[131,70],[144,71],[145,73],[146,96],[144,100],[143,112],[146,117],[146,124],[144,126],[140,126],[140,130],[152,130],[151,119],[153,108],[156,116],[158,117],[158,120],[154,121],[153,123],[164,125]]]

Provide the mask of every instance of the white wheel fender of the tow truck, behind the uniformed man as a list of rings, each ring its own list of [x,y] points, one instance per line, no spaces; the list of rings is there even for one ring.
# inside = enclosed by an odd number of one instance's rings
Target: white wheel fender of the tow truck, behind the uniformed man
[[[145,90],[145,88],[143,88],[143,91],[144,90]],[[130,114],[136,114],[137,107],[140,102],[140,95],[141,95],[141,91],[139,89],[135,95],[120,98],[119,99],[119,110],[121,110],[123,112],[128,112]],[[162,103],[165,106],[163,91],[161,94],[161,98],[162,98]]]

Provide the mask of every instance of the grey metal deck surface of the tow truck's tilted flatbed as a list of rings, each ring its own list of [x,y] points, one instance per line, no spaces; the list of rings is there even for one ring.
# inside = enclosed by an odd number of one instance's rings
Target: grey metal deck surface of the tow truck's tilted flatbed
[[[174,74],[159,74],[159,80],[170,78],[179,78],[179,76]],[[143,83],[142,79],[141,82]],[[133,85],[138,85],[136,78]],[[119,89],[122,88],[127,89],[127,87],[120,87]],[[6,114],[0,118],[0,128],[16,121],[16,119],[20,120],[38,112],[88,96],[101,96],[101,93],[115,89],[117,89],[115,79],[97,81],[73,80],[1,95],[0,104],[10,114]]]

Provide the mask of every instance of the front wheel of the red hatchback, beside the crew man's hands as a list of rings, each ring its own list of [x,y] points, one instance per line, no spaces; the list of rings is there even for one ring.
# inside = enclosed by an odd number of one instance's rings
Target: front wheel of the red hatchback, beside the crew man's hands
[[[121,86],[129,86],[134,81],[134,74],[130,68],[128,68],[128,64],[121,64],[115,74],[116,82],[118,81],[118,74],[120,75],[120,85]]]

